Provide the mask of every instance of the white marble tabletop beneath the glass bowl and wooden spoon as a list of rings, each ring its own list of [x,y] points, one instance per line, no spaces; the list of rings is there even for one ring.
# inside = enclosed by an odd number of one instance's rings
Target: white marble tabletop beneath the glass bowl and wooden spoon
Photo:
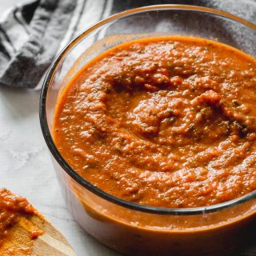
[[[24,0],[1,0],[0,14]],[[84,232],[60,194],[38,118],[39,92],[0,87],[0,187],[29,201],[64,234],[78,256],[117,256]]]

